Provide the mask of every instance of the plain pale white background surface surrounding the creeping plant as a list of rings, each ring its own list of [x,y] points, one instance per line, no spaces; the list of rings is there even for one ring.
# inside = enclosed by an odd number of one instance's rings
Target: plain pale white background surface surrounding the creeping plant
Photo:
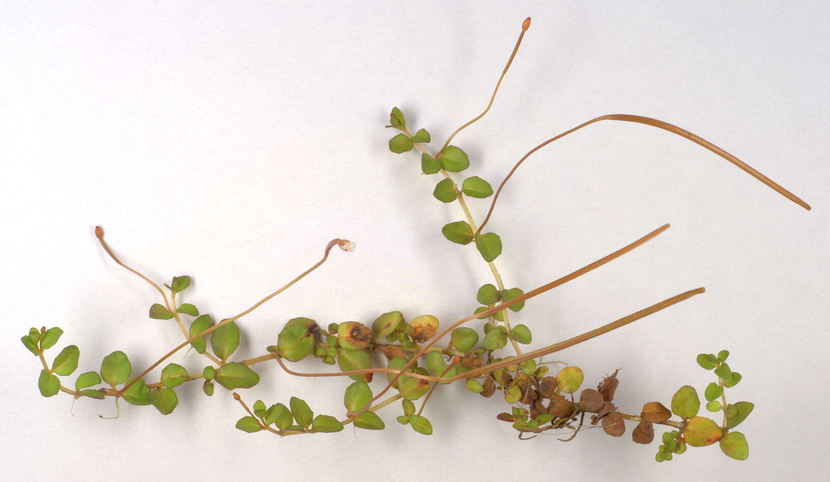
[[[301,4],[300,4],[301,3]],[[828,446],[827,2],[3,2],[0,12],[2,473],[8,480],[735,480],[823,479]],[[534,348],[698,286],[696,296],[548,359],[586,387],[619,372],[615,402],[668,405],[712,380],[700,352],[729,348],[755,410],[744,462],[717,446],[657,464],[659,442],[588,430],[519,441],[500,397],[442,387],[420,436],[387,430],[248,435],[217,387],[178,389],[179,407],[76,402],[37,392],[19,342],[60,326],[76,373],[114,350],[135,372],[181,341],[147,318],[158,299],[115,265],[93,228],[154,280],[193,276],[182,300],[221,319],[305,270],[334,237],[353,253],[242,319],[239,358],[264,353],[287,319],[370,323],[392,309],[449,324],[491,282],[471,246],[444,240],[461,219],[435,201],[419,156],[387,149],[395,105],[439,147],[480,113],[520,24],[530,31],[484,119],[453,144],[494,186],[528,149],[601,114],[678,124],[812,204],[807,212],[686,139],[605,122],[531,157],[486,231],[508,286],[530,290],[649,231],[637,251],[530,300],[513,316]],[[465,175],[456,176],[460,182]],[[481,221],[488,202],[472,200]],[[235,356],[237,356],[235,355]],[[182,360],[201,371],[206,360]],[[329,370],[315,360],[296,365]],[[257,368],[244,399],[305,398],[343,415],[344,378]],[[158,377],[154,375],[153,377]],[[65,384],[73,386],[75,376]],[[380,378],[380,377],[378,377]],[[374,384],[376,390],[382,385]],[[657,431],[657,437],[662,431]],[[564,434],[568,436],[568,434]]]

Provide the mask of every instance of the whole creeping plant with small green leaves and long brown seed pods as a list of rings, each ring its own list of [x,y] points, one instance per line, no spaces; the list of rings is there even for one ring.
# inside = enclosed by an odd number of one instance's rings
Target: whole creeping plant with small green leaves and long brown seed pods
[[[195,305],[178,302],[178,296],[188,290],[189,276],[175,276],[164,285],[155,283],[121,262],[105,242],[103,229],[96,227],[95,236],[112,260],[138,275],[159,292],[161,299],[149,307],[149,318],[170,320],[181,331],[183,342],[140,371],[134,370],[125,353],[110,353],[102,360],[100,369],[83,372],[76,377],[73,388],[71,384],[67,386],[62,383],[60,377],[76,373],[80,349],[76,345],[66,346],[54,358],[51,358],[50,352],[50,363],[46,352],[56,346],[63,331],[56,327],[32,328],[21,339],[26,348],[41,361],[42,369],[38,378],[41,394],[51,397],[58,392],[66,392],[75,398],[113,398],[116,407],[123,399],[133,405],[152,405],[167,415],[178,407],[176,388],[186,382],[199,381],[208,397],[214,395],[216,385],[232,392],[245,412],[237,421],[237,428],[242,431],[270,431],[279,436],[291,436],[341,431],[349,424],[364,430],[379,430],[385,428],[389,421],[389,417],[386,421],[381,417],[381,409],[394,406],[398,409],[397,421],[400,424],[429,435],[433,429],[424,413],[427,402],[442,385],[461,382],[471,393],[482,397],[497,394],[503,398],[510,407],[498,413],[496,418],[509,423],[523,438],[548,431],[563,431],[573,438],[586,424],[601,426],[611,436],[623,436],[626,421],[631,421],[633,428],[630,433],[632,440],[637,443],[652,442],[655,426],[667,427],[662,434],[662,445],[657,450],[658,461],[671,460],[673,455],[681,454],[689,445],[715,443],[730,457],[747,458],[749,445],[745,436],[733,429],[749,416],[753,405],[750,402],[735,402],[732,397],[727,400],[726,389],[740,382],[741,375],[726,363],[729,357],[726,350],[701,353],[696,359],[702,368],[712,370],[715,374],[714,380],[703,390],[706,409],[715,414],[712,415],[713,418],[701,416],[701,399],[694,387],[680,387],[671,398],[669,407],[660,402],[646,402],[639,412],[618,409],[613,403],[619,383],[618,372],[599,380],[595,389],[584,388],[583,372],[578,366],[566,366],[552,371],[551,365],[544,363],[542,358],[698,295],[703,292],[702,288],[664,299],[577,337],[531,351],[522,348],[522,345],[532,343],[533,336],[528,326],[517,323],[515,313],[520,312],[528,299],[623,256],[658,236],[668,225],[657,228],[569,275],[526,291],[505,285],[495,264],[502,252],[500,236],[483,230],[494,213],[496,201],[505,183],[521,163],[554,140],[600,120],[647,124],[681,135],[734,163],[802,207],[809,209],[808,205],[740,159],[685,129],[657,119],[630,114],[610,114],[588,120],[530,149],[495,190],[490,183],[476,176],[457,180],[454,175],[470,167],[470,158],[462,148],[451,144],[452,139],[490,110],[501,79],[508,71],[529,27],[530,19],[527,19],[486,109],[450,135],[441,148],[428,148],[427,144],[432,141],[431,135],[426,129],[410,129],[403,112],[398,108],[391,111],[390,124],[387,126],[399,131],[389,139],[389,149],[393,153],[404,154],[417,148],[421,153],[422,173],[441,178],[436,183],[432,196],[447,204],[457,202],[458,207],[461,207],[463,218],[443,226],[442,235],[453,243],[475,246],[492,271],[492,282],[481,285],[475,294],[480,306],[473,313],[446,327],[439,327],[438,319],[431,314],[403,314],[401,311],[388,311],[374,321],[364,320],[365,323],[335,320],[334,323],[325,324],[296,317],[288,320],[276,345],[266,348],[266,353],[255,358],[234,359],[232,356],[240,344],[237,320],[323,264],[334,246],[351,251],[354,250],[354,243],[342,239],[330,241],[325,246],[323,258],[294,280],[239,314],[214,323],[212,316],[203,314]],[[488,197],[492,197],[490,212],[481,223],[477,223],[466,202],[471,198]],[[481,330],[467,326],[473,320],[484,320]],[[183,348],[191,349],[207,359],[202,372],[188,372],[177,363],[169,363],[168,359],[173,353]],[[307,357],[319,358],[320,362],[336,365],[337,369],[306,373],[291,368],[291,363]],[[354,382],[344,392],[344,413],[339,416],[315,415],[315,411],[300,397],[276,403],[261,400],[251,404],[245,402],[241,390],[261,382],[255,370],[259,363],[278,363],[286,372],[301,377],[350,377]],[[158,381],[149,379],[149,373],[155,368],[162,368]],[[373,382],[375,373],[382,374],[378,377],[381,384],[378,386],[375,383],[373,387],[370,383]],[[224,392],[220,389],[219,393]],[[392,410],[389,407],[387,412]],[[672,414],[676,416],[675,419],[672,419]]]

